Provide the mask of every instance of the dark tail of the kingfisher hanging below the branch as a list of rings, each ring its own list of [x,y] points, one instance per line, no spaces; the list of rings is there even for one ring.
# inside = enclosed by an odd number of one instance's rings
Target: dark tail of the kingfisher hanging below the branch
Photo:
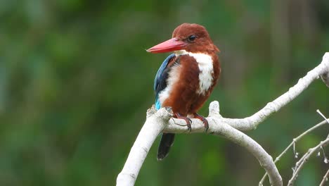
[[[163,133],[162,134],[159,148],[157,149],[157,160],[158,161],[161,161],[168,155],[170,147],[172,147],[174,140],[175,140],[175,134],[172,134],[172,133]]]

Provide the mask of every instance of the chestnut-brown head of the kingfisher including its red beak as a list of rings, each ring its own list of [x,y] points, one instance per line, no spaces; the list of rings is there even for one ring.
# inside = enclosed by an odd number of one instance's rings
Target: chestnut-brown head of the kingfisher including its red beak
[[[176,27],[172,39],[148,49],[151,53],[186,50],[192,53],[213,54],[219,51],[205,27],[198,24],[183,23]]]

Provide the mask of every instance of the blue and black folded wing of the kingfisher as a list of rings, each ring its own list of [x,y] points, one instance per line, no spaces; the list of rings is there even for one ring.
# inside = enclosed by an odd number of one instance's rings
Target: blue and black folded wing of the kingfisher
[[[155,75],[154,79],[154,92],[155,92],[155,109],[159,110],[161,108],[159,93],[167,87],[167,78],[169,68],[167,68],[169,61],[175,57],[175,54],[171,54],[168,56],[160,66],[159,70],[157,70],[157,75]]]

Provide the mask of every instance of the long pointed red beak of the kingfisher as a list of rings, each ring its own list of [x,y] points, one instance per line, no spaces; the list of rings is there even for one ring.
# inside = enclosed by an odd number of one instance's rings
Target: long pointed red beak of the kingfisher
[[[186,43],[180,41],[179,39],[176,39],[176,37],[169,39],[165,42],[162,42],[160,44],[157,44],[153,46],[150,49],[147,49],[146,51],[150,53],[164,53],[169,51],[177,51],[183,49],[183,46],[185,46]]]

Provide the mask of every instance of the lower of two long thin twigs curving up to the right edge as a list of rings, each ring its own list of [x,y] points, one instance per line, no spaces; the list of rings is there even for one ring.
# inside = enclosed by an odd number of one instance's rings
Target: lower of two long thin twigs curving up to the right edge
[[[327,138],[324,141],[320,142],[318,145],[316,145],[316,147],[313,147],[313,148],[309,149],[309,151],[307,151],[307,153],[305,153],[304,156],[302,156],[302,158],[299,159],[299,161],[297,161],[296,166],[294,168],[294,173],[292,174],[292,177],[290,178],[290,180],[288,182],[288,186],[294,184],[294,182],[295,182],[295,180],[298,176],[299,171],[302,170],[302,167],[309,160],[309,157],[312,154],[314,154],[316,151],[321,149],[321,147],[325,147],[328,143],[329,143],[329,138]]]

